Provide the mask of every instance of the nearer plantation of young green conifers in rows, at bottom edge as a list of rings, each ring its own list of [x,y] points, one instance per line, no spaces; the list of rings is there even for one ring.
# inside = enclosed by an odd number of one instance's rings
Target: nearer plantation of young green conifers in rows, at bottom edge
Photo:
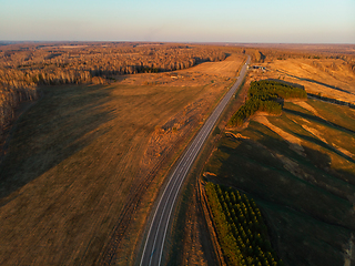
[[[229,265],[283,265],[254,200],[231,187],[205,185],[219,243]]]

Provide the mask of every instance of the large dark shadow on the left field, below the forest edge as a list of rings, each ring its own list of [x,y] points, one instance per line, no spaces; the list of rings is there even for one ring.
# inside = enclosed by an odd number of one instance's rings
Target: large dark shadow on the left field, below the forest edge
[[[4,198],[9,194],[105,133],[99,127],[112,119],[113,110],[104,106],[111,90],[100,85],[43,88],[44,96],[12,131],[0,165],[0,206],[11,201]]]

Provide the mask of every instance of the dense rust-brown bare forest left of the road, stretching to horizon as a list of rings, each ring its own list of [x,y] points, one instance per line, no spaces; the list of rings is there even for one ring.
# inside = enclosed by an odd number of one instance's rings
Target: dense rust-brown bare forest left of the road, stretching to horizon
[[[39,85],[106,83],[115,75],[186,69],[226,54],[164,43],[17,43],[0,47],[0,133]]]

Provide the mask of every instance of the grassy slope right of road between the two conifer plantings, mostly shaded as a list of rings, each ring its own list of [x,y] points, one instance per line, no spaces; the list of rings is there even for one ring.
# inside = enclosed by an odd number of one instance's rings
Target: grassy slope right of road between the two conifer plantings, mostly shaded
[[[224,132],[204,171],[260,204],[286,265],[351,265],[354,124],[345,106],[285,102],[281,116],[256,115]]]

